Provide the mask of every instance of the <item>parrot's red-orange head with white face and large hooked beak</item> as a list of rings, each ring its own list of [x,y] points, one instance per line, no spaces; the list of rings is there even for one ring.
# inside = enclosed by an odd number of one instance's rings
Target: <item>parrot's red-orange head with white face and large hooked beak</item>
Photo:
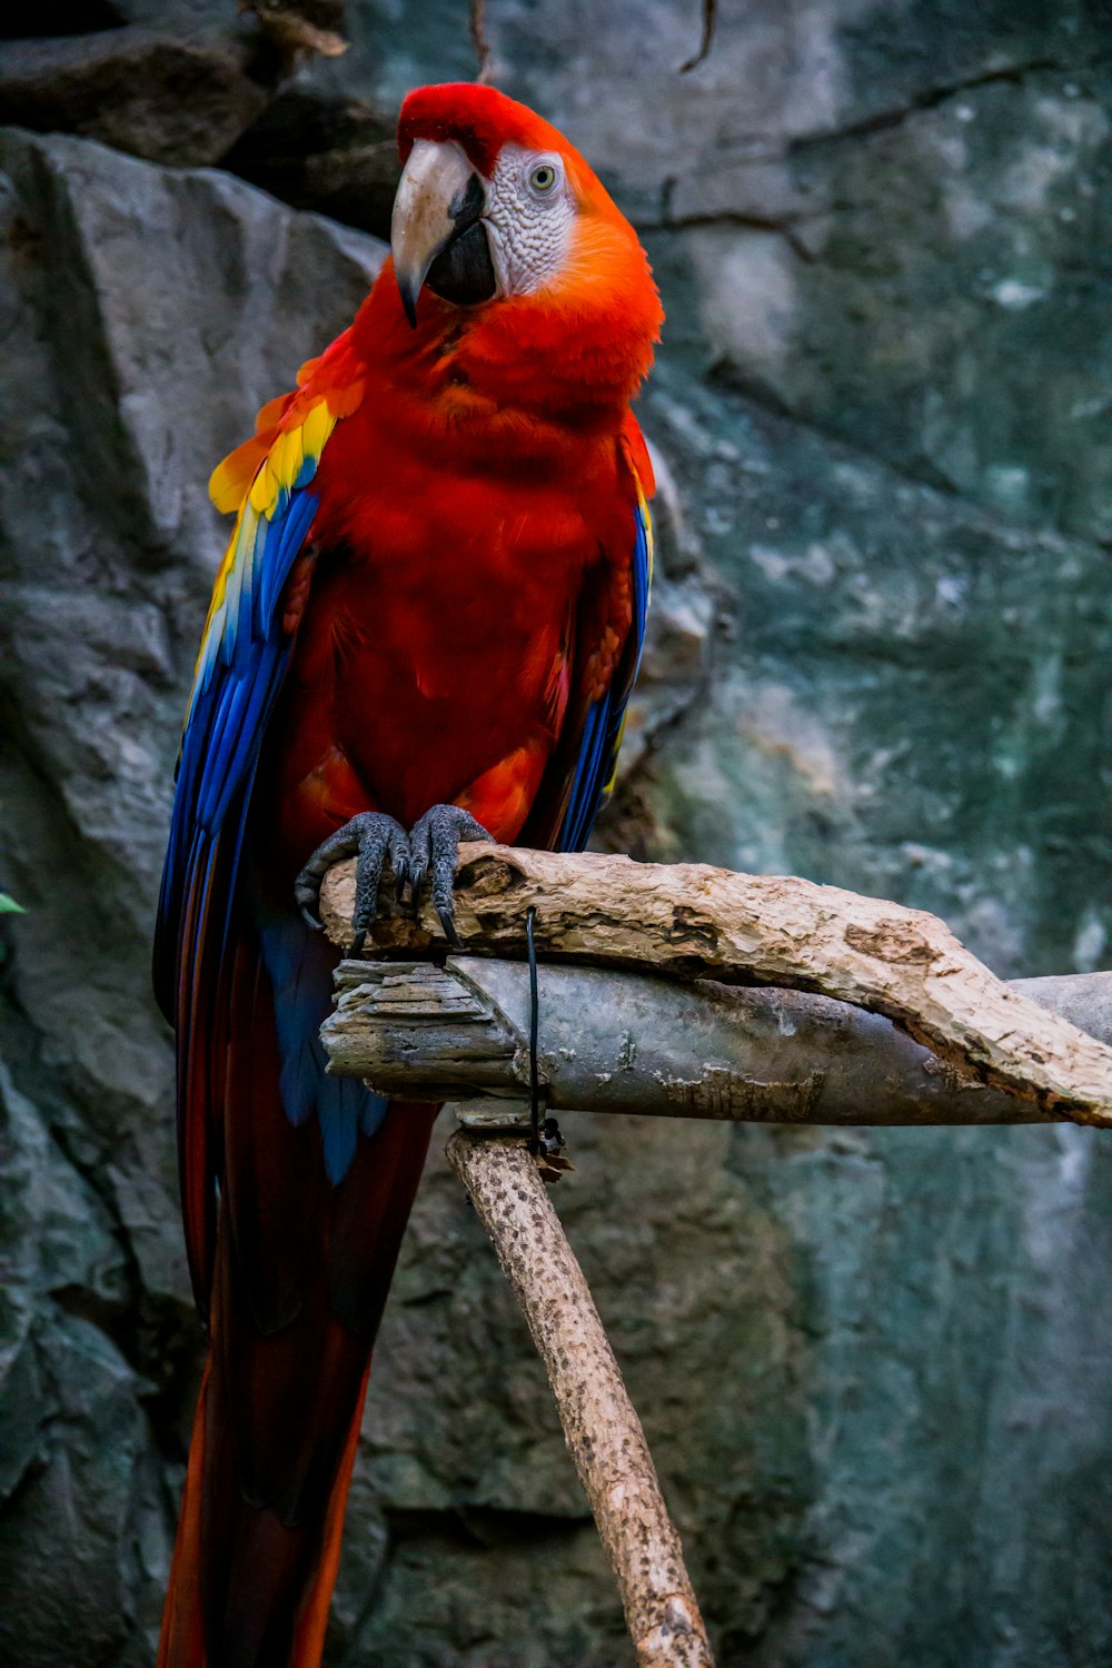
[[[559,319],[584,345],[615,332],[637,344],[632,380],[644,377],[664,317],[649,260],[557,128],[493,87],[420,87],[402,105],[398,150],[390,245],[412,325],[422,290],[512,317],[525,335]]]

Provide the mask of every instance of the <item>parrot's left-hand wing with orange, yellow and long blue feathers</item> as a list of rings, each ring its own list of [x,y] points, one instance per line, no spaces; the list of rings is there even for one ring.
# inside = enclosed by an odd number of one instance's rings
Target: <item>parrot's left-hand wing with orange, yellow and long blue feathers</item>
[[[153,954],[155,994],[178,1031],[182,1203],[198,1294],[207,1288],[213,1236],[215,1148],[205,1108],[217,1099],[202,1063],[218,1058],[208,1042],[227,1007],[223,949],[250,789],[297,631],[283,592],[317,512],[310,489],[320,454],[337,419],[353,409],[350,384],[342,395],[320,389],[317,364],[303,369],[298,394],[263,409],[258,435],[225,459],[210,482],[217,507],[242,502],[217,574],[182,736]]]

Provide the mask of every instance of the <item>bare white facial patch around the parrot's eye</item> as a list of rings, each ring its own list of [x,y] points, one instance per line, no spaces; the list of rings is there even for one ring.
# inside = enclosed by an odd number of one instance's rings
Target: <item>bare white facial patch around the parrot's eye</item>
[[[575,212],[557,152],[502,147],[483,215],[500,295],[535,295],[560,275]]]

